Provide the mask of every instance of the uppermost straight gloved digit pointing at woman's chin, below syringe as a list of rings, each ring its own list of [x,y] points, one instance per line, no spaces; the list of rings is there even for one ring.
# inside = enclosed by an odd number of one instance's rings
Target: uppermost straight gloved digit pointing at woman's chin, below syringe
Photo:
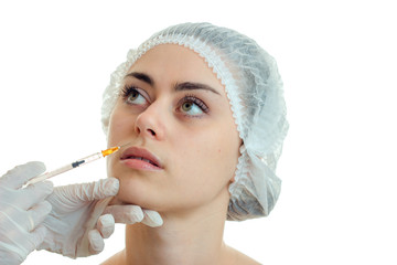
[[[90,183],[58,187],[55,190],[58,198],[64,198],[61,201],[68,201],[71,205],[76,205],[116,195],[119,190],[119,181],[116,178],[108,178]]]

